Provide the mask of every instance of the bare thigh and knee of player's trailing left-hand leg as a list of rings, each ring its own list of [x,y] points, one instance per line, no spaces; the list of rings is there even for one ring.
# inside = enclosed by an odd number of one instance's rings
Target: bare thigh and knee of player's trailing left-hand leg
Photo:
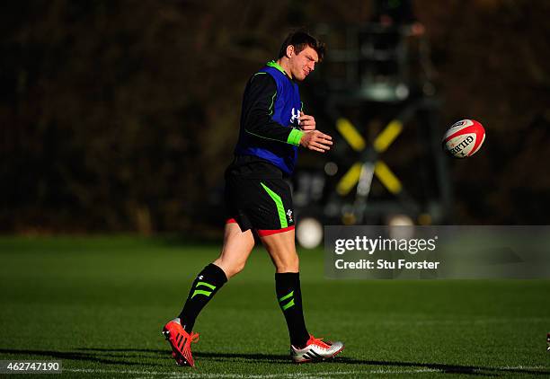
[[[250,229],[243,232],[238,224],[227,223],[224,245],[214,264],[224,270],[227,278],[231,278],[244,269],[253,247],[254,237]]]

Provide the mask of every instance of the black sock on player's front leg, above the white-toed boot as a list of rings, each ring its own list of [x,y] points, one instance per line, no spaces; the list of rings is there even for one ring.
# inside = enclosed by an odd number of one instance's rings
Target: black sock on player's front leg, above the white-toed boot
[[[306,330],[302,309],[300,274],[297,272],[275,274],[275,291],[280,309],[287,321],[290,343],[297,348],[304,347],[309,339],[309,333]]]

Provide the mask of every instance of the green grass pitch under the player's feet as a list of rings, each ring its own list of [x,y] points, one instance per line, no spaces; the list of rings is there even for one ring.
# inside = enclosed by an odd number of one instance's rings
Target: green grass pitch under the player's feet
[[[550,280],[327,280],[300,251],[306,323],[341,339],[331,362],[293,365],[267,253],[195,325],[196,369],[160,335],[216,245],[133,237],[0,238],[0,359],[62,360],[75,377],[550,375]]]

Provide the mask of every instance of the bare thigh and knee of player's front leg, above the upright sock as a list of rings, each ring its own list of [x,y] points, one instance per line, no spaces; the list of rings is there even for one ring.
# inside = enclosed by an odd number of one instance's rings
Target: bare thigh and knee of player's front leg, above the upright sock
[[[269,252],[278,273],[299,271],[294,229],[261,236],[260,239]]]

